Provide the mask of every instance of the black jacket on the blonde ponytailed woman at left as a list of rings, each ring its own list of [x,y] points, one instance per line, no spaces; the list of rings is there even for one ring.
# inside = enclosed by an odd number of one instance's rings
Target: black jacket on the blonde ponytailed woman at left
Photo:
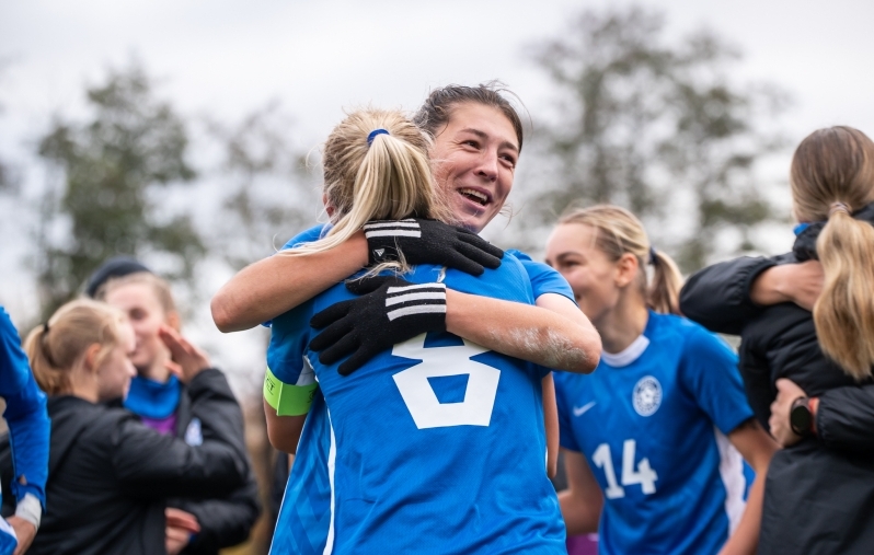
[[[203,423],[198,447],[122,408],[49,398],[47,511],[28,554],[165,553],[168,497],[222,497],[245,484],[245,452],[226,429],[228,400],[215,394],[227,389],[225,377],[204,370],[188,389],[192,414]]]

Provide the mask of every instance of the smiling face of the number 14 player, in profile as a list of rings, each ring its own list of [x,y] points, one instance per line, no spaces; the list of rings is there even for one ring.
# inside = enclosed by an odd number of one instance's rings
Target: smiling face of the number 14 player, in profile
[[[596,246],[597,230],[582,223],[555,228],[547,243],[547,264],[571,285],[579,309],[597,326],[619,303],[626,279],[621,265]]]

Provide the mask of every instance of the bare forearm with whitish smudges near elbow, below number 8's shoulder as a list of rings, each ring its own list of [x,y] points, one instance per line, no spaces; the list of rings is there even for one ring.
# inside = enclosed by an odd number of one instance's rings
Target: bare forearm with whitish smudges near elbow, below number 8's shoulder
[[[598,363],[597,332],[545,309],[447,290],[450,333],[545,368],[591,372]]]

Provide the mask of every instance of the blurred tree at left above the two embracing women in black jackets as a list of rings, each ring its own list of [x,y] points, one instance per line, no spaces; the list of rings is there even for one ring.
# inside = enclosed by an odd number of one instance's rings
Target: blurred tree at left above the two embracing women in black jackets
[[[164,255],[163,274],[191,278],[206,253],[185,211],[158,201],[171,185],[194,180],[188,131],[151,80],[133,62],[88,89],[87,122],[56,118],[38,142],[51,175],[39,199],[37,273],[42,312],[76,294],[116,254]]]

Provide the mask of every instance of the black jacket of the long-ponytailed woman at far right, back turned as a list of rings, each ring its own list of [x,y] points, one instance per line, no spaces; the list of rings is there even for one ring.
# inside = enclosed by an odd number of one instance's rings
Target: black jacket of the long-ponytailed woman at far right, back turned
[[[874,207],[853,216],[874,222]],[[749,297],[766,269],[816,257],[821,229],[805,230],[792,253],[705,268],[680,294],[686,316],[713,332],[740,335],[740,372],[766,428],[779,378],[820,398],[817,437],[771,461],[758,551],[764,555],[874,553],[874,384],[854,382],[824,356],[808,311],[792,303],[758,307]]]

